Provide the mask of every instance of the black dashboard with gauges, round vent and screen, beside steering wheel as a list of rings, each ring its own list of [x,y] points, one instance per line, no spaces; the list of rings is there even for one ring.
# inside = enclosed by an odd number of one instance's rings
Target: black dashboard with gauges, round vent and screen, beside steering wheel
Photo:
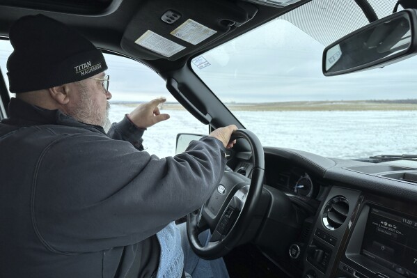
[[[297,236],[281,237],[288,241],[285,254],[274,252],[271,240],[255,240],[267,258],[288,272],[300,270],[294,277],[417,278],[417,184],[407,178],[417,164],[330,159],[286,148],[264,152],[265,190],[283,192],[304,212],[296,213],[304,219]],[[247,158],[236,169],[250,177]],[[261,227],[258,238],[281,229]]]

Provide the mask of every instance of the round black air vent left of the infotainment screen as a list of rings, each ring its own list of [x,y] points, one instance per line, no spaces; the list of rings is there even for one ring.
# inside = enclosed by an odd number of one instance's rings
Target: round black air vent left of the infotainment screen
[[[349,213],[349,203],[343,196],[336,196],[324,207],[323,224],[329,230],[342,226]]]

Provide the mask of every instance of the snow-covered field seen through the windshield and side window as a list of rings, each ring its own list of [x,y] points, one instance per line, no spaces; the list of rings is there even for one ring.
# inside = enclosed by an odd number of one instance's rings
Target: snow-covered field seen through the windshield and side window
[[[132,107],[112,105],[111,121]],[[171,118],[145,132],[143,146],[158,157],[175,154],[179,132],[207,134],[187,111],[162,110]],[[327,157],[355,158],[379,154],[417,154],[417,111],[236,111],[263,146],[306,150]]]

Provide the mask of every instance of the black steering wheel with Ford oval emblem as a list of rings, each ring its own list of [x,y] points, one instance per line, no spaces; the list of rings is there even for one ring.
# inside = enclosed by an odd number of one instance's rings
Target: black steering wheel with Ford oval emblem
[[[246,139],[251,146],[251,179],[233,171],[225,171],[210,199],[199,210],[187,215],[189,243],[200,258],[220,258],[244,238],[262,194],[265,171],[262,144],[249,130],[233,132],[232,140],[239,138]],[[198,240],[198,234],[207,229],[212,232],[212,237],[205,245],[205,242],[202,244]]]

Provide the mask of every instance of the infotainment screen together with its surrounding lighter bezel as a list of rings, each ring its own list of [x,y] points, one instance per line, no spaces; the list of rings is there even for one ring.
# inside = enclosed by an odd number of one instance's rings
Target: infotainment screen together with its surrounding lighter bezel
[[[364,203],[339,269],[360,278],[417,278],[417,219]]]

